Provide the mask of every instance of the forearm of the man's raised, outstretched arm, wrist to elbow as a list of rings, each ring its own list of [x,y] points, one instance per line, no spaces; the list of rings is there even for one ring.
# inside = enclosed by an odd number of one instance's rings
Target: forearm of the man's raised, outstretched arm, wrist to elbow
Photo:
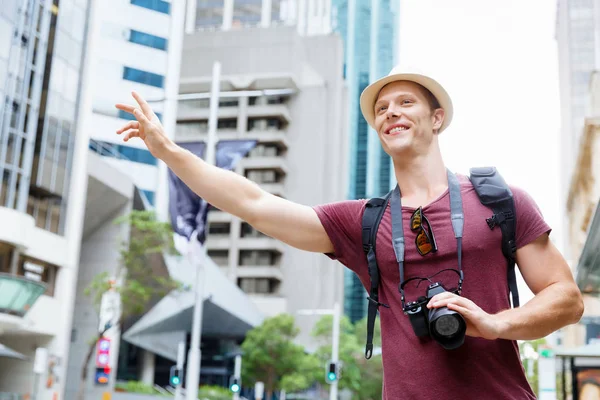
[[[197,195],[245,221],[252,218],[252,204],[266,194],[249,179],[210,165],[172,142],[160,158]]]

